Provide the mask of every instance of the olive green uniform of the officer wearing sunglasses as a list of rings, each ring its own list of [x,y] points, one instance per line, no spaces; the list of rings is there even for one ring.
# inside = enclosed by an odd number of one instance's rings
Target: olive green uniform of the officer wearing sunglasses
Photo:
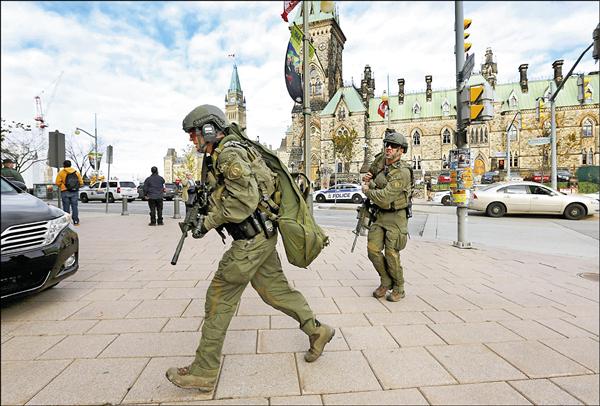
[[[373,178],[365,193],[377,206],[375,221],[367,238],[367,252],[381,278],[381,286],[404,291],[400,251],[406,246],[408,219],[405,208],[411,192],[410,169],[401,160],[385,168],[385,155],[379,154],[369,172]]]

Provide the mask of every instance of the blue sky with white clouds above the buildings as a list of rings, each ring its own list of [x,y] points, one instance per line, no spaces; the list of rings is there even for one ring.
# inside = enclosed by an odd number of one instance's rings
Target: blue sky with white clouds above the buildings
[[[499,82],[564,73],[592,41],[598,2],[464,2],[473,19],[475,70],[491,47]],[[366,64],[375,94],[398,78],[422,91],[455,81],[453,2],[336,2],[346,35],[343,77],[360,83]],[[296,14],[300,6],[292,12]],[[188,143],[181,120],[203,103],[223,107],[236,54],[248,102],[248,134],[278,147],[291,123],[283,79],[288,25],[283,2],[2,2],[2,118],[33,123],[34,97],[48,103],[50,129],[93,132],[115,148],[111,174],[145,178],[167,148]],[[578,72],[597,70],[591,52]],[[56,89],[53,83],[64,72]],[[87,137],[86,137],[87,138]],[[89,138],[75,138],[88,144]],[[104,167],[105,171],[106,168]]]

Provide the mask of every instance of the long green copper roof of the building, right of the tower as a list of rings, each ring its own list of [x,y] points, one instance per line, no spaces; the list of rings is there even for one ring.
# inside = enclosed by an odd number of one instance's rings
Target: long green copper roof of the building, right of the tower
[[[590,81],[592,88],[592,100],[585,104],[598,104],[600,100],[600,78],[598,75],[586,75]],[[474,74],[469,79],[469,85],[482,83],[485,79],[480,74]],[[529,90],[527,93],[523,93],[519,82],[515,83],[504,83],[497,84],[494,92],[494,101],[501,103],[501,107],[495,106],[495,112],[499,113],[506,110],[526,110],[536,108],[536,98],[543,97],[546,95],[548,86],[550,86],[552,79],[547,80],[535,80],[529,81]],[[571,76],[560,93],[556,98],[556,107],[564,106],[578,106],[581,105],[577,100],[577,76]],[[514,93],[517,99],[517,107],[511,107],[509,104],[509,98]],[[385,121],[379,114],[377,114],[377,108],[381,103],[381,97],[374,97],[369,100],[369,121],[378,122]],[[431,101],[426,101],[425,92],[409,93],[404,95],[404,103],[398,104],[398,95],[391,95],[388,99],[388,104],[391,109],[391,120],[409,120],[409,119],[423,119],[430,117],[442,117],[443,116],[443,105],[448,103],[449,116],[456,116],[456,90],[437,90],[433,91],[431,95]],[[413,107],[418,104],[421,111],[420,114],[413,113]],[[548,106],[546,106],[548,107]]]

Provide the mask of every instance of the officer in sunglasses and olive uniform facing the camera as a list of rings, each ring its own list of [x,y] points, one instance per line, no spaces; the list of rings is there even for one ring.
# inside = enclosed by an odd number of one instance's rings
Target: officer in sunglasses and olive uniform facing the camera
[[[412,168],[400,160],[408,150],[404,135],[386,130],[385,153],[375,157],[363,177],[363,193],[375,206],[375,221],[367,237],[367,252],[381,283],[373,292],[376,298],[397,302],[404,293],[400,251],[406,246],[408,217],[412,196]]]

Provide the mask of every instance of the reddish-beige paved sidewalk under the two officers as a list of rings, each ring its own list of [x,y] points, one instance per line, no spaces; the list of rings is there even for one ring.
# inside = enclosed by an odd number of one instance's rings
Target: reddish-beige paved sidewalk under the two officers
[[[331,245],[290,283],[337,329],[307,364],[295,321],[248,287],[216,390],[164,374],[193,359],[204,298],[225,250],[216,233],[179,239],[178,220],[86,214],[80,269],[2,308],[2,404],[598,404],[599,284],[593,260],[410,240],[406,298],[377,300],[360,237]],[[229,245],[229,240],[227,242]]]

